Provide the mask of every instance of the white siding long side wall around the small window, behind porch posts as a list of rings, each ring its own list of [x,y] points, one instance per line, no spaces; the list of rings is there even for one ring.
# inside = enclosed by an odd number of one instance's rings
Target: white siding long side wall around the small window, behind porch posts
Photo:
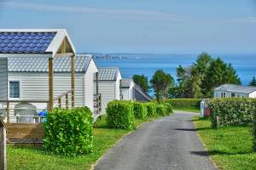
[[[46,73],[12,73],[9,72],[9,81],[20,81],[20,99],[49,99],[49,79]],[[84,75],[75,77],[75,106],[84,105]],[[67,92],[71,88],[71,77],[68,73],[54,73],[54,97]],[[71,98],[69,98],[71,101]],[[10,105],[14,108],[15,104]],[[46,108],[46,104],[33,104],[38,109]],[[65,105],[64,98],[62,105]],[[71,102],[70,102],[71,106]],[[13,111],[11,113],[13,116]],[[15,121],[15,120],[13,120]]]

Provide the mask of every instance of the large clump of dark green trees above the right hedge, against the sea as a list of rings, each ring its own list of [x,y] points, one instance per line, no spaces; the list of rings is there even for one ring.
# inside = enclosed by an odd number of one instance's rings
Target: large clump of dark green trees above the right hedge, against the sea
[[[241,84],[235,69],[220,58],[200,54],[189,67],[177,67],[178,85],[169,90],[171,98],[212,97],[213,88],[224,83]]]

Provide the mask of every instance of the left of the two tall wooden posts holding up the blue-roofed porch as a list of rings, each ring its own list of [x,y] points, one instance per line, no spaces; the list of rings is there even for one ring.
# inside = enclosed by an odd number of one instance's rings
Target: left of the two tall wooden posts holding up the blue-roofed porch
[[[53,58],[49,58],[49,111],[53,110],[54,97],[53,97]]]

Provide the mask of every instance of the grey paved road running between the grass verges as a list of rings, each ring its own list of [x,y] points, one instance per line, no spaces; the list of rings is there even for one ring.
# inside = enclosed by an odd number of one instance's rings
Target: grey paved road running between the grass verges
[[[216,169],[198,139],[191,116],[195,113],[178,111],[145,123],[108,150],[95,169]]]

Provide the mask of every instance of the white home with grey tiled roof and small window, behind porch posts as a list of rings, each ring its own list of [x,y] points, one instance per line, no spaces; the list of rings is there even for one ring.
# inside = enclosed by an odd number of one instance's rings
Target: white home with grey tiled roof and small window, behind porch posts
[[[48,59],[9,58],[8,62],[9,99],[48,99]],[[53,69],[54,97],[57,97],[70,89],[70,59],[55,58]],[[94,110],[93,82],[97,71],[92,55],[75,56],[75,106],[86,105]],[[61,103],[65,105],[65,101]],[[46,108],[46,104],[34,105]]]

